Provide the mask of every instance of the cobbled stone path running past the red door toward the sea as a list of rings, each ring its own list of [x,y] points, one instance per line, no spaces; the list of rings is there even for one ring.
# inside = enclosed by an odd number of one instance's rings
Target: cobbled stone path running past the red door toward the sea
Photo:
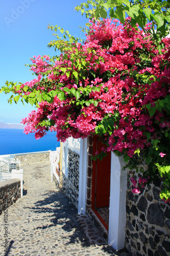
[[[4,214],[0,216],[0,255],[129,255],[105,245],[89,219],[78,217],[75,206],[51,182],[50,162],[27,163],[22,168],[23,197],[8,208],[7,223]]]

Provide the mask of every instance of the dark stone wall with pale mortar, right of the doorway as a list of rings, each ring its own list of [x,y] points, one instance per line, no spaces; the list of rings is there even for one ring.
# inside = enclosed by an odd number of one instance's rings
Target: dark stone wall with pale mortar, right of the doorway
[[[140,177],[140,174],[138,175]],[[170,255],[170,204],[160,197],[161,181],[131,192],[131,175],[127,182],[126,248],[133,256]]]

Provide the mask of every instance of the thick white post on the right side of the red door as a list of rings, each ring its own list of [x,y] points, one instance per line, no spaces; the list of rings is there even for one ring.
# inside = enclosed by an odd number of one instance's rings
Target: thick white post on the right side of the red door
[[[122,170],[124,165],[123,157],[112,152],[108,244],[115,250],[125,245],[127,171]]]

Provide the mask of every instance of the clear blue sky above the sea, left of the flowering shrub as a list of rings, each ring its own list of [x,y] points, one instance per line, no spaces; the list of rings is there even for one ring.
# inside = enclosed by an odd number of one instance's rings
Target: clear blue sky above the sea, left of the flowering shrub
[[[79,26],[88,22],[75,7],[83,0],[0,0],[0,87],[5,82],[27,82],[34,77],[30,58],[56,55],[47,44],[55,37],[48,24],[58,25],[71,35],[85,38]],[[20,123],[35,108],[31,104],[8,103],[10,95],[0,93],[0,122]]]

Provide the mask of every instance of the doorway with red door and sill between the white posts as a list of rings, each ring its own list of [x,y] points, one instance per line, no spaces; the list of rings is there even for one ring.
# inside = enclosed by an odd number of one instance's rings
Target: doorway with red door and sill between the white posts
[[[93,136],[93,156],[96,151],[101,153],[102,147],[106,147],[106,145],[100,141],[98,136]],[[101,161],[99,159],[93,161],[91,208],[107,230],[109,225],[110,172],[110,152]]]

